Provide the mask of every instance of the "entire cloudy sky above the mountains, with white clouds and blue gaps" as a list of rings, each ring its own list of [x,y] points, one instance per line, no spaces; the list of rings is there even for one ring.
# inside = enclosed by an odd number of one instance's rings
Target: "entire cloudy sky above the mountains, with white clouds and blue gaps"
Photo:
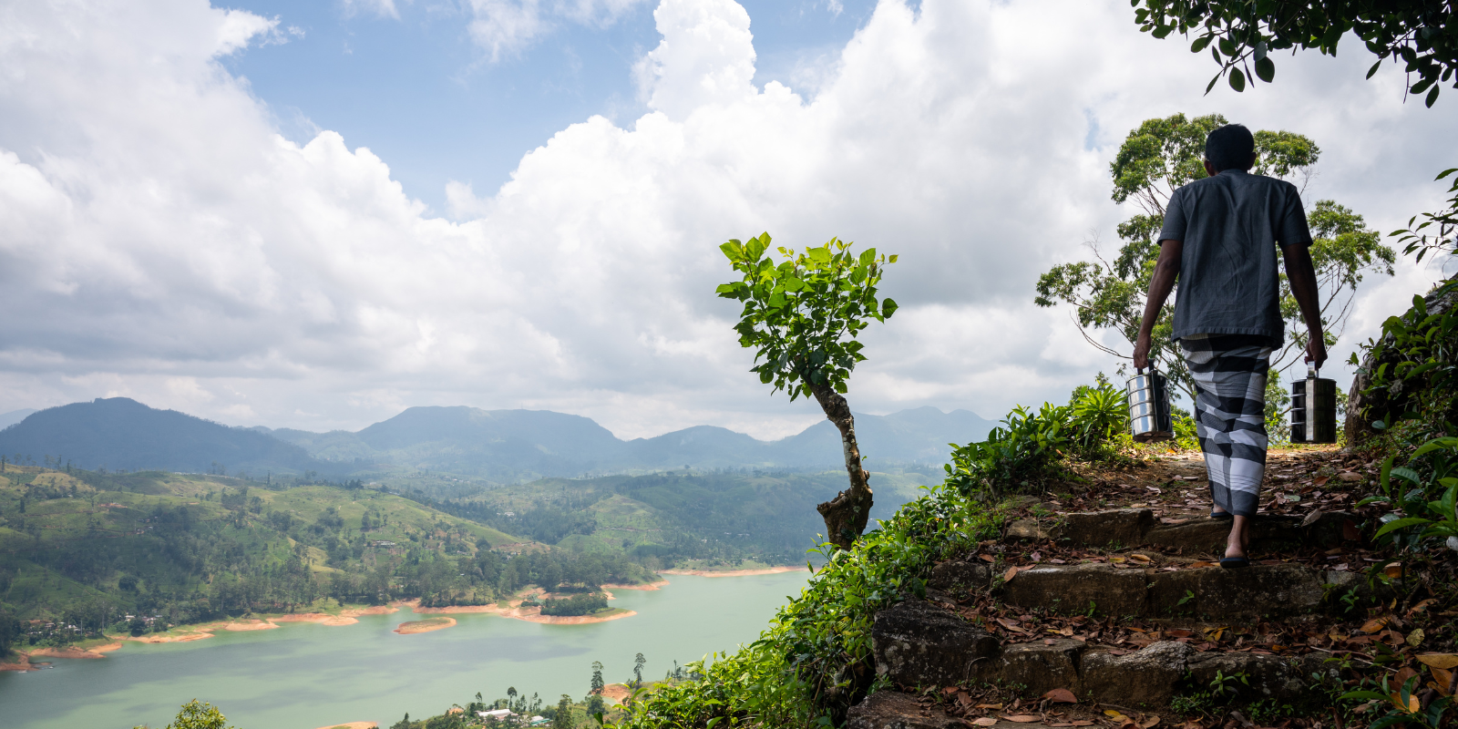
[[[1219,112],[1322,149],[1305,190],[1436,210],[1458,106],[1371,55],[1209,55],[1123,0],[0,3],[0,411],[131,397],[235,426],[534,408],[781,437],[717,251],[900,255],[854,410],[1000,418],[1118,363],[1051,265],[1115,248],[1130,128]],[[1333,363],[1442,277],[1368,276]],[[1110,344],[1127,348],[1117,335]]]

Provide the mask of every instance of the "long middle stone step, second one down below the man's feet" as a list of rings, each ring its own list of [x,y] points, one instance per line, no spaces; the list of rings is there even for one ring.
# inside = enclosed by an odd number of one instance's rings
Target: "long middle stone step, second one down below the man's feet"
[[[927,586],[959,598],[993,589],[993,570],[986,564],[948,561],[932,569]],[[1083,563],[1021,570],[996,588],[994,596],[1007,605],[1061,615],[1092,609],[1095,615],[1139,618],[1289,618],[1334,609],[1340,593],[1353,586],[1365,586],[1354,572],[1295,563],[1174,572]]]

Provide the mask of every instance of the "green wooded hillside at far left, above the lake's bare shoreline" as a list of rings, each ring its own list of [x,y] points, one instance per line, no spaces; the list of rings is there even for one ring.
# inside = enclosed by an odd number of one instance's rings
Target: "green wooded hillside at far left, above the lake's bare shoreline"
[[[182,624],[330,596],[484,604],[542,574],[652,576],[621,555],[531,545],[378,490],[260,488],[217,475],[0,474],[0,614],[96,631],[118,615]],[[512,553],[529,553],[512,560]],[[64,639],[66,636],[50,636]]]

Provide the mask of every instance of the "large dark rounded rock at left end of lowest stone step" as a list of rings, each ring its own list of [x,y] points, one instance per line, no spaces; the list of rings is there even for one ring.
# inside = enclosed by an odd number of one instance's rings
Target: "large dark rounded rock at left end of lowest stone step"
[[[961,684],[974,662],[999,653],[987,631],[923,601],[876,612],[870,646],[876,674],[903,685]]]

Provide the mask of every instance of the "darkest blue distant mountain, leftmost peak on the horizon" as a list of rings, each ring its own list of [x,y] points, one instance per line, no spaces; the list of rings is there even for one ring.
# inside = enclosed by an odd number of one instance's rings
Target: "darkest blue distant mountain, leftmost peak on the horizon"
[[[61,458],[77,468],[229,474],[341,471],[308,451],[252,429],[227,427],[136,399],[98,398],[32,413],[0,430],[0,453],[36,464]]]

